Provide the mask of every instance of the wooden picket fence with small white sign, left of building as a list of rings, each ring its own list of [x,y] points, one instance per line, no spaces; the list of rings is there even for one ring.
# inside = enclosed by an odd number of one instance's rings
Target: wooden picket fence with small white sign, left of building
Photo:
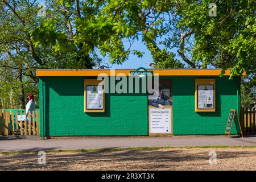
[[[0,135],[39,135],[39,111],[28,111],[23,121],[18,121],[18,115],[25,111],[3,111],[0,109]]]

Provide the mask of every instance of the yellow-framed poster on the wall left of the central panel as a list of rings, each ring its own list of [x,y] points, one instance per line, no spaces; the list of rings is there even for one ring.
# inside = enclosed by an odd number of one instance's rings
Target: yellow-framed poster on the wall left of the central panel
[[[104,84],[100,80],[85,79],[84,110],[85,112],[105,111]]]

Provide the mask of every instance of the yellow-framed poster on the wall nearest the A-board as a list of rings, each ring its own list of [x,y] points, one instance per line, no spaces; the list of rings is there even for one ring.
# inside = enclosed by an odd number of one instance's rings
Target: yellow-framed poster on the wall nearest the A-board
[[[216,111],[215,79],[196,79],[196,111]]]

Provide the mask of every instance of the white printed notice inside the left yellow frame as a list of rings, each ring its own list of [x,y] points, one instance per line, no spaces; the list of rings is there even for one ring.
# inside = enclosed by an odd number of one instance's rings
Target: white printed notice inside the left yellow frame
[[[86,109],[103,109],[103,89],[98,85],[86,86]]]

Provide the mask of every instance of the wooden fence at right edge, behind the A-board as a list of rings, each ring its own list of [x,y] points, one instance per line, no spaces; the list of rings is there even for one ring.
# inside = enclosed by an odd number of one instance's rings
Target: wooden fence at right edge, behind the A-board
[[[252,109],[241,109],[241,121],[243,121],[241,127],[243,132],[255,132],[256,131],[256,112],[255,107]]]

